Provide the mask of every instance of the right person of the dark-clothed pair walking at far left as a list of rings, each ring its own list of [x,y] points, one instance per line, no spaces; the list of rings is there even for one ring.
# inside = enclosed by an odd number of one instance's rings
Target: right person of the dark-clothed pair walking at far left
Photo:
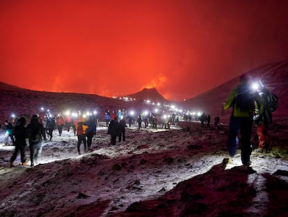
[[[44,128],[39,123],[38,114],[33,114],[26,131],[29,139],[31,167],[33,167],[34,160],[38,160],[41,155],[42,137],[44,137]]]

